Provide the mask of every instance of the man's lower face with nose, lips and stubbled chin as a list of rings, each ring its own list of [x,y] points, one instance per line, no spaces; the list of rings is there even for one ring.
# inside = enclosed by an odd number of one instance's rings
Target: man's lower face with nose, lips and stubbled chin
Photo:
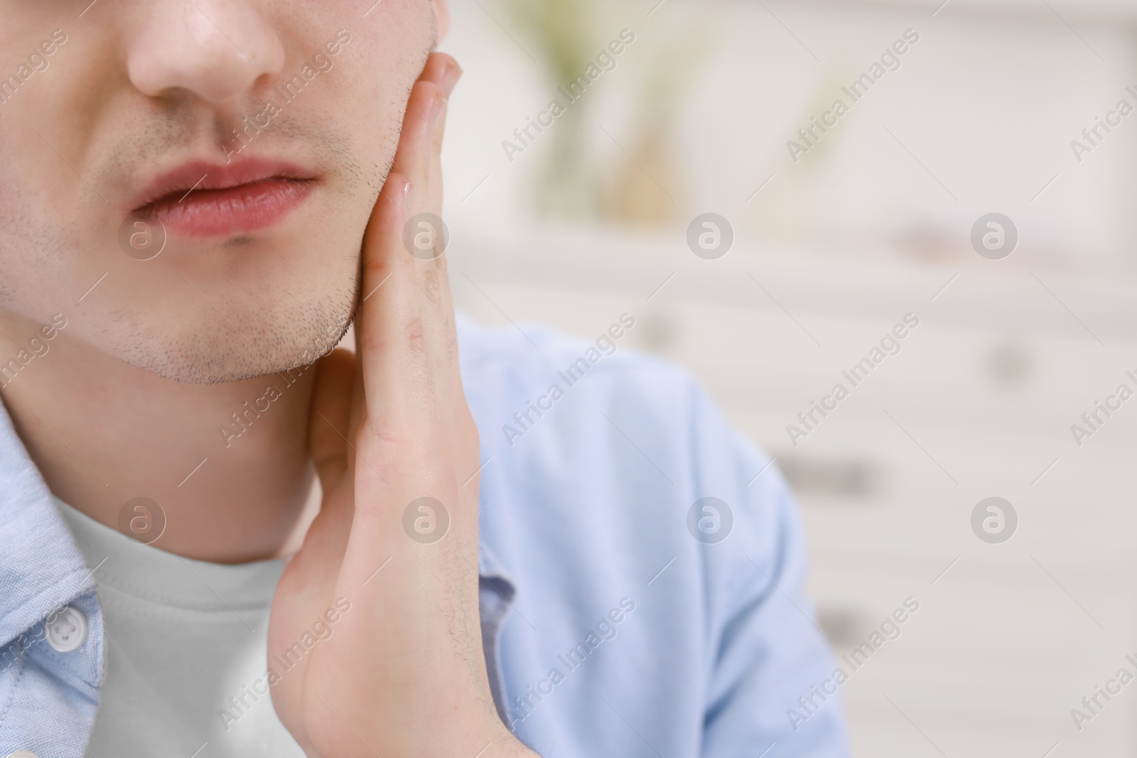
[[[330,350],[431,3],[86,5],[0,0],[0,308],[183,382]]]

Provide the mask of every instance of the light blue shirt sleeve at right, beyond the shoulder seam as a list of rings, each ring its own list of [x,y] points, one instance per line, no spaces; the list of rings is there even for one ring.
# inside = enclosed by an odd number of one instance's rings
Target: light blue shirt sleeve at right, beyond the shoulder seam
[[[806,550],[770,458],[692,385],[699,492],[727,503],[731,533],[704,545],[709,660],[704,758],[844,758],[840,685],[803,584]],[[720,516],[725,520],[725,516]]]

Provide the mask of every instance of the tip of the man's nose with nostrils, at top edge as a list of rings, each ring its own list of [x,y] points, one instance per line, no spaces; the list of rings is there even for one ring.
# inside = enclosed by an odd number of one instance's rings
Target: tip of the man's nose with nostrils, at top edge
[[[134,88],[157,98],[191,92],[232,100],[284,66],[284,45],[251,3],[156,2],[127,56]]]

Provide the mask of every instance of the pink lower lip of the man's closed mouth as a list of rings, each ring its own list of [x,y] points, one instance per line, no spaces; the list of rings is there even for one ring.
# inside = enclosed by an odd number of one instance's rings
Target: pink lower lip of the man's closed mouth
[[[267,228],[312,194],[313,183],[271,178],[226,190],[192,190],[151,206],[149,215],[176,236],[225,236]]]

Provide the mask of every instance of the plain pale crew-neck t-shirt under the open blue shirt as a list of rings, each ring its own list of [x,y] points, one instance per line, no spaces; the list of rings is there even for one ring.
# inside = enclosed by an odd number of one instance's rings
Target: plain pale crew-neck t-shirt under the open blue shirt
[[[91,758],[304,758],[258,693],[281,561],[190,560],[56,502],[94,569],[106,630]]]

